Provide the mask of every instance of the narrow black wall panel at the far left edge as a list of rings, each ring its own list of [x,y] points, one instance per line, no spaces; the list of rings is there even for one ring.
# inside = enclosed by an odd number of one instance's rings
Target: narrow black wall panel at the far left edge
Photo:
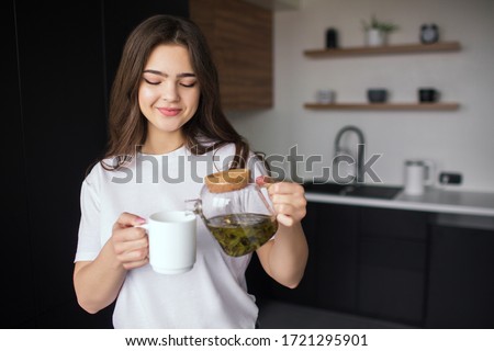
[[[27,190],[24,162],[24,134],[22,129],[22,109],[19,84],[18,56],[15,43],[15,22],[13,1],[2,1],[0,19],[3,30],[1,77],[5,84],[2,95],[2,208],[7,208],[2,224],[2,264],[0,274],[3,281],[0,309],[0,327],[12,328],[27,322],[34,315],[34,284],[31,270],[32,250],[27,226]]]

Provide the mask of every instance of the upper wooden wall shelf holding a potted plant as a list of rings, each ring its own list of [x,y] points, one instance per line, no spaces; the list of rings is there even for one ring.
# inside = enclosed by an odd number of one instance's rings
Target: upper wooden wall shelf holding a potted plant
[[[362,46],[329,49],[308,49],[304,55],[308,57],[345,57],[345,56],[366,56],[382,54],[413,54],[431,52],[458,52],[461,45],[459,42],[444,42],[435,44],[402,44],[383,46]]]

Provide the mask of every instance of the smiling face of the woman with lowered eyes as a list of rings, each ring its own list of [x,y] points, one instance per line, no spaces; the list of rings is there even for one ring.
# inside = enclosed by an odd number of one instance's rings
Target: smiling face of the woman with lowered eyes
[[[139,107],[148,121],[148,138],[182,138],[181,127],[194,115],[199,82],[183,45],[157,46],[144,67]]]

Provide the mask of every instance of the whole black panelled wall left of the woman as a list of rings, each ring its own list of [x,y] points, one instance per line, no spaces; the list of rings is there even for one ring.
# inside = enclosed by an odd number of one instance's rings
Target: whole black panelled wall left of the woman
[[[111,327],[112,306],[90,315],[74,292],[79,192],[106,139],[108,72],[114,75],[128,32],[153,13],[188,16],[188,1],[1,4],[9,121],[1,178],[8,318],[1,326]]]

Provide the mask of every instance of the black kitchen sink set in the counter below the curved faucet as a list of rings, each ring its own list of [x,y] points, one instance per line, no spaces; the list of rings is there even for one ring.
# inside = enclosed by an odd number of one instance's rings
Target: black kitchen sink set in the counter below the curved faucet
[[[304,182],[306,192],[330,194],[338,196],[356,196],[370,199],[394,199],[402,190],[402,186],[370,185],[370,184],[338,184],[324,183],[317,181]]]

